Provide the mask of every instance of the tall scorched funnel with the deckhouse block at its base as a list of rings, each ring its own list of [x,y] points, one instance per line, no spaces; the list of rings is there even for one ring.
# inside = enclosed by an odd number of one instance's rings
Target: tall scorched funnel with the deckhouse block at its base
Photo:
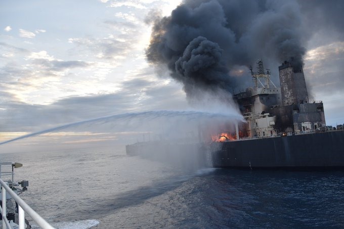
[[[309,101],[302,65],[285,61],[278,69],[282,104],[271,109],[278,117],[276,128],[299,133],[325,127],[324,105],[321,101]]]

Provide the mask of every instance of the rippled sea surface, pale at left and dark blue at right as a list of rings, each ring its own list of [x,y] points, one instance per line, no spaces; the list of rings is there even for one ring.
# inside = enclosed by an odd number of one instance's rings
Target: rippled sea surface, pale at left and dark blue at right
[[[112,149],[0,157],[24,164],[21,198],[57,228],[344,228],[343,171],[189,169]]]

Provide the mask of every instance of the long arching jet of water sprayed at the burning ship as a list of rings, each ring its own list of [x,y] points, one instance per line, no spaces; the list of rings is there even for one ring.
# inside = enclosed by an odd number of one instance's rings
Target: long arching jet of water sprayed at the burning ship
[[[173,119],[186,119],[187,121],[193,121],[193,120],[197,120],[197,121],[212,121],[212,122],[216,122],[217,120],[221,120],[221,122],[225,122],[225,121],[241,121],[242,117],[239,114],[223,114],[223,113],[207,113],[207,112],[200,112],[200,111],[147,111],[147,112],[137,112],[137,113],[124,113],[124,114],[117,114],[117,115],[111,115],[111,116],[106,116],[106,117],[100,117],[100,118],[95,118],[95,119],[89,119],[89,120],[83,120],[83,121],[79,121],[79,122],[73,122],[73,123],[69,123],[69,124],[65,124],[65,125],[61,125],[61,126],[57,126],[54,128],[49,128],[49,129],[45,129],[45,130],[41,130],[41,131],[37,131],[37,132],[33,132],[33,133],[29,133],[29,134],[25,134],[22,136],[19,136],[18,138],[14,138],[8,141],[4,141],[1,142],[0,145],[6,144],[6,143],[10,143],[10,142],[14,142],[17,140],[21,140],[21,139],[26,139],[29,138],[31,136],[37,136],[40,134],[44,134],[44,133],[49,133],[49,132],[53,132],[53,131],[57,131],[57,130],[61,130],[61,129],[66,129],[69,127],[75,127],[75,126],[79,126],[85,123],[97,123],[97,122],[110,122],[110,121],[115,121],[117,122],[118,125],[126,125],[129,122],[133,121],[133,120],[137,120],[140,123],[145,123],[145,122],[151,122],[154,120],[157,120],[159,118],[167,118],[170,121]]]

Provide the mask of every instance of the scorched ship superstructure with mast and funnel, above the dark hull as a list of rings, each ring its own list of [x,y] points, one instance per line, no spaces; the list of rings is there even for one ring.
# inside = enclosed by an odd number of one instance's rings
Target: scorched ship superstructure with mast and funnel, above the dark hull
[[[281,87],[270,79],[270,70],[263,61],[257,62],[257,71],[250,68],[253,87],[234,95],[244,118],[246,136],[269,137],[281,132],[299,133],[325,126],[322,102],[309,103],[302,66],[289,62],[279,66]]]

